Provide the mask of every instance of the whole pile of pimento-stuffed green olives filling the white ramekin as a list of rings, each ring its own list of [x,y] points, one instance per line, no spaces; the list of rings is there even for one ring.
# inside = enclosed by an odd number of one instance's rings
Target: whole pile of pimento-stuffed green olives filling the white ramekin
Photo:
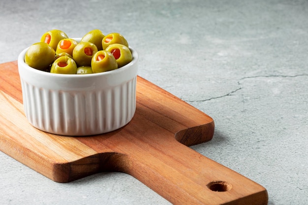
[[[94,29],[78,43],[61,30],[44,33],[26,52],[32,68],[61,74],[100,73],[120,68],[132,60],[126,39],[120,33],[104,35]]]

